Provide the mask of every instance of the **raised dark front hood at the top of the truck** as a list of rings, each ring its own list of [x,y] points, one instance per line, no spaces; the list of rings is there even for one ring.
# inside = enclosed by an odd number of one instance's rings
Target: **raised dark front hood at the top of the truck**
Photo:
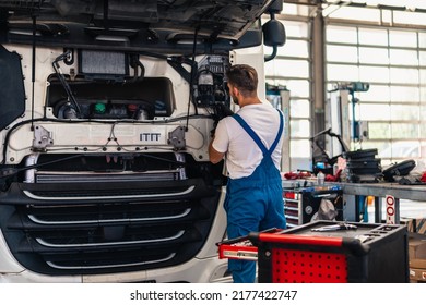
[[[272,0],[0,0],[0,41],[128,50],[258,45]],[[35,25],[34,23],[35,22]],[[222,46],[222,47],[221,47]]]

